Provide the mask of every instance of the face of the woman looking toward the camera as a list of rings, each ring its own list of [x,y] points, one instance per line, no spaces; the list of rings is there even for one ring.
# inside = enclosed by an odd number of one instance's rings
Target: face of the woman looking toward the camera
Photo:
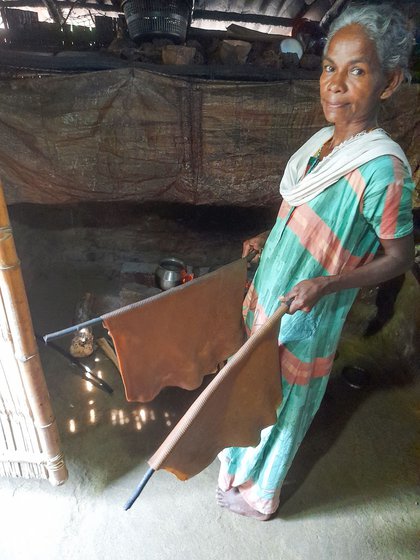
[[[343,27],[324,56],[320,79],[325,118],[342,129],[363,130],[376,123],[386,86],[375,45],[360,25]]]

